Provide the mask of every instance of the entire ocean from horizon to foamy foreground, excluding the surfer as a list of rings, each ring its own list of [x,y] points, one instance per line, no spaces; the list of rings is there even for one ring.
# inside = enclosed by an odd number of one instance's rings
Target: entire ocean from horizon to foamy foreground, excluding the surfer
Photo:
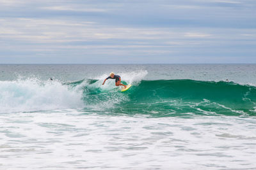
[[[131,89],[102,85],[112,71]],[[256,169],[255,75],[256,64],[0,64],[0,169]]]

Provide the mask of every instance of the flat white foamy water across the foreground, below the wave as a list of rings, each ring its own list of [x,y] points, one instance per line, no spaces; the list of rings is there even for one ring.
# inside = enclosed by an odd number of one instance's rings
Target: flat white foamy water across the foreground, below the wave
[[[0,114],[0,120],[1,169],[256,167],[253,117],[115,117],[67,110]]]

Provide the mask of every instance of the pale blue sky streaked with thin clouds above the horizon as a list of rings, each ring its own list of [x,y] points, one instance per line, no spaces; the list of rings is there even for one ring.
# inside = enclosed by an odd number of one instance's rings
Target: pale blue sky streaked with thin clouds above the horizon
[[[0,0],[0,64],[256,63],[255,0]]]

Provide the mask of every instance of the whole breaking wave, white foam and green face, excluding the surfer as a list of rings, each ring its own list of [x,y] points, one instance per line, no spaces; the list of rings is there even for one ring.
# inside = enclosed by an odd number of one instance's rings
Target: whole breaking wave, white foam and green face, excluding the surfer
[[[104,76],[102,76],[103,78]],[[125,79],[133,86],[120,92],[99,80],[17,80],[0,82],[0,113],[82,108],[90,113],[186,115],[256,115],[256,87],[225,81]],[[129,82],[128,82],[129,81]]]

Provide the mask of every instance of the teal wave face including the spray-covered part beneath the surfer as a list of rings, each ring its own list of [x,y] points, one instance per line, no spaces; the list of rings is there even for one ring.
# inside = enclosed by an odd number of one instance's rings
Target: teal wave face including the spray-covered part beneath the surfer
[[[122,93],[90,80],[83,87],[83,101],[86,108],[117,114],[253,116],[256,87],[225,81],[142,80]]]

